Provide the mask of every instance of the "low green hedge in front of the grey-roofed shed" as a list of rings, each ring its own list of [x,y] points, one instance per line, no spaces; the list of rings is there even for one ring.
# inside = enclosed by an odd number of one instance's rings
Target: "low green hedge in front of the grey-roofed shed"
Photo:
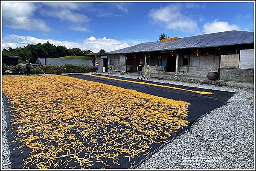
[[[26,68],[20,64],[17,64],[15,66],[6,65],[6,64],[2,65],[3,74],[5,73],[6,70],[11,70],[12,74],[19,74],[19,73],[22,73],[21,72],[22,69],[26,71]],[[43,66],[34,66],[33,68],[30,69],[30,73],[31,74],[41,74],[43,69],[44,69]],[[72,64],[65,64],[62,66],[47,66],[46,67],[46,73],[89,73],[92,71],[93,71],[92,67],[84,66],[84,65],[75,66]]]

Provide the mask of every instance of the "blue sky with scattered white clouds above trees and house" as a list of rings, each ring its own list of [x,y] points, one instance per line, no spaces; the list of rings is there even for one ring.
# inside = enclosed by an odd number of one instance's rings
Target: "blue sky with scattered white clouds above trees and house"
[[[2,49],[49,41],[98,52],[157,41],[254,30],[254,3],[1,1]]]

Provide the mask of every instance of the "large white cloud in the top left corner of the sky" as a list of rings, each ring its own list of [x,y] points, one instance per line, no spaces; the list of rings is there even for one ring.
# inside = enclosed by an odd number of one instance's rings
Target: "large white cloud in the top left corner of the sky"
[[[2,3],[3,25],[14,29],[50,31],[43,20],[33,17],[37,6],[26,2]]]

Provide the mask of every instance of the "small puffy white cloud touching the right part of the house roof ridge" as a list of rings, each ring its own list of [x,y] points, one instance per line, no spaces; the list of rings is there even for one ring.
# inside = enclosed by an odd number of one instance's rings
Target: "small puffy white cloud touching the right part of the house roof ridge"
[[[203,26],[204,33],[216,33],[222,31],[241,30],[238,25],[230,25],[228,22],[218,21],[206,22]]]

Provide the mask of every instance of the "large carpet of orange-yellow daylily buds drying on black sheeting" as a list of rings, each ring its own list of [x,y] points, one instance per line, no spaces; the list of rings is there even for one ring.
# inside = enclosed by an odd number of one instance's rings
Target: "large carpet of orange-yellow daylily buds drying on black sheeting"
[[[32,151],[23,168],[32,163],[42,169],[74,168],[74,162],[90,168],[93,161],[110,168],[120,165],[120,154],[132,167],[134,157],[148,154],[151,144],[166,142],[188,124],[184,101],[59,75],[2,81],[13,104],[10,125],[20,125],[12,129],[15,141],[19,149]]]

